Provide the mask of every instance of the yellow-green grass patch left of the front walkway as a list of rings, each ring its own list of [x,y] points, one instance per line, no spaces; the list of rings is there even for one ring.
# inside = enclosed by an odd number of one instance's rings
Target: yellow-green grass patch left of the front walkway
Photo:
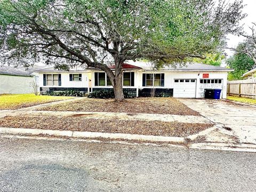
[[[0,95],[0,109],[20,109],[30,107],[42,103],[60,101],[73,97],[57,97],[50,95],[35,94],[2,94]]]

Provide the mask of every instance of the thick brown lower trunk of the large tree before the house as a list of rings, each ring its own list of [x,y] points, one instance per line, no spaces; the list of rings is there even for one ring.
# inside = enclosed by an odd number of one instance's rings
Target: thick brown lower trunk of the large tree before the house
[[[114,92],[115,92],[115,100],[116,101],[123,101],[124,100],[124,93],[123,93],[123,72],[115,74],[115,81],[114,81]]]

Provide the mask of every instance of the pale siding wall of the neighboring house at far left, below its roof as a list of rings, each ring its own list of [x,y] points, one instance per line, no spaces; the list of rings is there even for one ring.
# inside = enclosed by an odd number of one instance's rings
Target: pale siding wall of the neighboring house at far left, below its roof
[[[32,86],[34,77],[0,75],[0,94],[25,94],[34,93]]]

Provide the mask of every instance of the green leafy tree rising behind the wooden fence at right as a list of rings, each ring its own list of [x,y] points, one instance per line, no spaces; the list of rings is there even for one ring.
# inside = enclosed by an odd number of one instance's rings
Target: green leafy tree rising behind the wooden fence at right
[[[238,50],[243,49],[245,43],[240,43],[237,46]],[[242,79],[242,75],[255,67],[254,60],[246,53],[236,51],[235,54],[226,60],[227,65],[234,69],[228,76],[228,80],[239,80]]]

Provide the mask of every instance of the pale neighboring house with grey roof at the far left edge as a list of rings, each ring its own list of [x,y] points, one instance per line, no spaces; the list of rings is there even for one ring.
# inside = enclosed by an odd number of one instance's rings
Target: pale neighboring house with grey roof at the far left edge
[[[25,70],[0,66],[0,94],[33,93],[33,81],[34,76]]]

